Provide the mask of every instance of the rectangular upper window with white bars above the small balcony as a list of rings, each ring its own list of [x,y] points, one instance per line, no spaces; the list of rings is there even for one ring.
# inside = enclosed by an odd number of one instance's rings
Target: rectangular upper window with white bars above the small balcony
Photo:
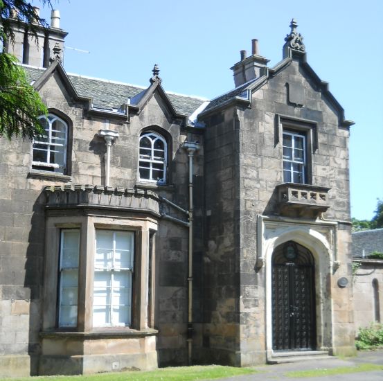
[[[306,184],[305,134],[283,130],[283,181]]]

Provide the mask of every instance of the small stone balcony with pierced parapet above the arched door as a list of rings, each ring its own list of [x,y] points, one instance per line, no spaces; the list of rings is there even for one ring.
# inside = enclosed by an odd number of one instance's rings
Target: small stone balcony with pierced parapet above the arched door
[[[278,211],[291,217],[317,218],[330,207],[330,188],[308,184],[284,183],[276,186]]]

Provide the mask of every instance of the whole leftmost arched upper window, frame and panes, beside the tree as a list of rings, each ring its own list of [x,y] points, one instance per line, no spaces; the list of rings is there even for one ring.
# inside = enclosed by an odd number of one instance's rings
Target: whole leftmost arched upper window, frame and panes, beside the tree
[[[64,173],[66,170],[66,146],[68,125],[58,116],[40,116],[44,136],[33,140],[32,168]]]

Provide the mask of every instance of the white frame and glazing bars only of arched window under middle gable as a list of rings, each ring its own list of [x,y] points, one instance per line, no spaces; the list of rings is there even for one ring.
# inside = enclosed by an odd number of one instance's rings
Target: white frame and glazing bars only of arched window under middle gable
[[[147,138],[151,142],[151,145],[152,145],[151,148],[142,148],[145,150],[150,150],[150,157],[148,157],[148,155],[145,155],[145,156],[141,155],[141,140],[143,138]],[[154,143],[155,143],[155,141],[157,141],[157,139],[163,142],[163,160],[156,159],[156,157],[154,155],[154,153],[156,151],[154,149]],[[155,132],[152,132],[152,131],[143,132],[143,134],[141,134],[141,136],[140,136],[140,141],[139,141],[139,179],[140,179],[140,181],[148,181],[148,182],[157,183],[157,184],[165,184],[166,183],[167,157],[168,157],[168,143],[166,143],[166,139],[164,139],[163,136],[161,136]],[[143,162],[149,163],[149,168],[141,166],[141,163],[143,163]],[[163,179],[161,179],[161,180],[154,179],[154,176],[153,176],[153,164],[154,163],[162,165]],[[140,169],[141,168],[149,169],[150,175],[149,175],[148,179],[146,179],[145,177],[141,177],[141,175],[140,175]]]

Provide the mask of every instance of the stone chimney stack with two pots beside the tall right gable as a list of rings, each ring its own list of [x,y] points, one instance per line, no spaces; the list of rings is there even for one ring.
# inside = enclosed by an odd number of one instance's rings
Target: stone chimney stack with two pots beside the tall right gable
[[[262,55],[259,55],[258,39],[251,40],[251,54],[247,57],[246,51],[241,51],[241,60],[237,62],[231,70],[233,70],[233,77],[235,87],[243,85],[250,80],[259,78],[262,75],[262,69],[267,66],[267,60]]]

